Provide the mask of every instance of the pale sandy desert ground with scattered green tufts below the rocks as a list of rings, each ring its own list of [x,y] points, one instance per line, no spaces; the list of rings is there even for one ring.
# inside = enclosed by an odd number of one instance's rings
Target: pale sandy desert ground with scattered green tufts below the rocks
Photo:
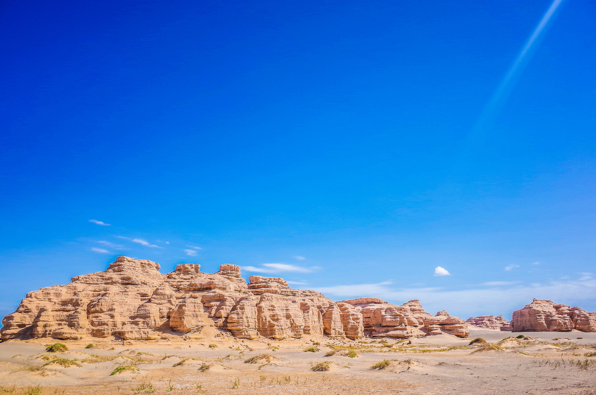
[[[45,350],[57,342],[49,338],[10,340],[0,344],[0,391],[596,394],[596,333],[524,332],[526,338],[517,340],[518,335],[475,330],[466,339],[275,341],[216,333],[169,340],[59,341],[68,347],[62,352]],[[487,344],[469,345],[479,337]],[[85,348],[88,344],[93,345]]]

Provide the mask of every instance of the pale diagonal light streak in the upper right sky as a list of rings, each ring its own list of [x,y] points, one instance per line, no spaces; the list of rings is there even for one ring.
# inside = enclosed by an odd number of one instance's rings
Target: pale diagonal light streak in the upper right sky
[[[547,27],[548,22],[551,20],[551,17],[562,2],[563,0],[554,0],[552,2],[547,12],[538,23],[538,26],[536,26],[536,29],[532,32],[532,35],[530,35],[530,38],[527,39],[526,45],[524,45],[522,51],[517,55],[516,60],[511,64],[507,74],[505,74],[504,78],[501,80],[501,84],[499,84],[499,87],[496,88],[492,95],[491,101],[486,105],[482,115],[480,115],[480,118],[476,122],[468,143],[479,140],[483,133],[486,132],[486,129],[491,126],[496,116],[498,116],[499,110],[501,110],[501,107],[517,82],[523,67],[527,64],[527,61],[529,61],[532,55],[533,49],[535,49],[534,44],[539,41],[545,27]]]

